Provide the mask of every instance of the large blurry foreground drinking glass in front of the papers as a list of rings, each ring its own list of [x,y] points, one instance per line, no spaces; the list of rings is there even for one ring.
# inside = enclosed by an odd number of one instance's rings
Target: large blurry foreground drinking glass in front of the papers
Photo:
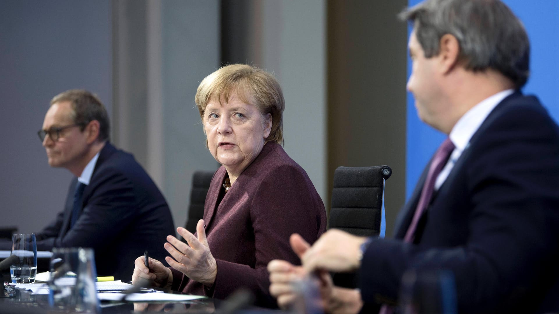
[[[92,249],[54,248],[50,260],[50,306],[70,312],[100,312],[96,278]]]

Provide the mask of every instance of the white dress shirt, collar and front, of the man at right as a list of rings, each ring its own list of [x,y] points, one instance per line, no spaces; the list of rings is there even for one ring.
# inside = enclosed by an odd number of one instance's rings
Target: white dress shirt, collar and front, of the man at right
[[[448,175],[454,167],[454,163],[456,163],[458,158],[462,155],[464,149],[466,149],[468,144],[470,144],[470,139],[473,134],[480,128],[480,125],[485,121],[487,116],[491,113],[495,106],[499,105],[505,97],[509,96],[513,92],[514,90],[501,91],[486,98],[485,100],[482,100],[479,104],[468,110],[454,125],[448,137],[451,139],[455,148],[451,153],[451,157],[448,158],[447,164],[444,166],[443,170],[440,171],[437,181],[435,181],[435,191],[437,191],[440,186],[443,185],[444,181],[447,180]]]

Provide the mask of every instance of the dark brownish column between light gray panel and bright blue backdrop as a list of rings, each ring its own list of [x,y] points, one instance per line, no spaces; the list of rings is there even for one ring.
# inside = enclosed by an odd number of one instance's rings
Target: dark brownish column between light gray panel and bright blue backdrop
[[[339,166],[390,166],[387,236],[404,203],[406,24],[396,15],[405,5],[328,2],[328,191]]]

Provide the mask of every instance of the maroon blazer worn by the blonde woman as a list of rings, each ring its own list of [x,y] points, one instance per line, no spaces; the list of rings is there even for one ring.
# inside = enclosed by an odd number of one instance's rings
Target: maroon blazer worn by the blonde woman
[[[173,289],[226,298],[237,288],[252,290],[260,306],[274,307],[266,266],[272,259],[300,264],[289,237],[299,233],[309,243],[326,230],[324,204],[309,176],[283,148],[267,143],[217,203],[226,170],[220,167],[204,209],[206,236],[217,261],[211,288],[173,270]]]

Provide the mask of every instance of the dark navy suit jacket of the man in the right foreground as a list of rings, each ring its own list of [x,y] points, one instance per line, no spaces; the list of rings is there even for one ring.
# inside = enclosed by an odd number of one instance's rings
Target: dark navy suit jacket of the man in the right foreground
[[[426,171],[425,171],[426,172]],[[458,310],[559,311],[559,130],[536,97],[506,97],[487,116],[402,243],[425,173],[361,267],[367,303],[396,299],[408,269],[452,270]]]

